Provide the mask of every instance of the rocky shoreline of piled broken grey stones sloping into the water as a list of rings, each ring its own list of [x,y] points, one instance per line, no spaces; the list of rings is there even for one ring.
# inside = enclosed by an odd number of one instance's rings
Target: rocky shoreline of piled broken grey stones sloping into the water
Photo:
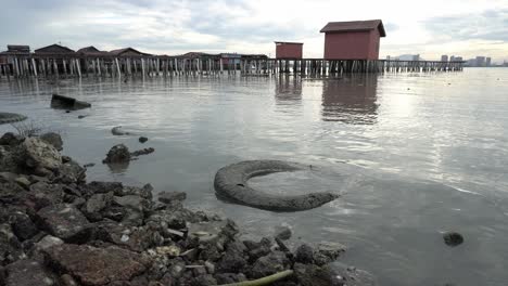
[[[87,182],[61,143],[0,139],[0,286],[374,285],[330,265],[340,245],[242,240],[233,221],[185,208],[185,193],[154,202],[150,184]]]

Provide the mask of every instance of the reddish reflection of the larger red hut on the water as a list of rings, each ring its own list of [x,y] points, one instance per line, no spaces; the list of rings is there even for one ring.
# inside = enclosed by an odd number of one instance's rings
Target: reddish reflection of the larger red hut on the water
[[[373,125],[377,120],[378,75],[354,75],[322,82],[322,120]]]

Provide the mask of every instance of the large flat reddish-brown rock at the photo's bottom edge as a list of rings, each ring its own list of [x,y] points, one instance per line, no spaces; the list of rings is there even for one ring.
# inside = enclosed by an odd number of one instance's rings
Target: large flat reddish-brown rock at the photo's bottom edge
[[[50,248],[46,260],[88,286],[130,281],[149,264],[142,256],[115,246],[96,248],[68,244]]]

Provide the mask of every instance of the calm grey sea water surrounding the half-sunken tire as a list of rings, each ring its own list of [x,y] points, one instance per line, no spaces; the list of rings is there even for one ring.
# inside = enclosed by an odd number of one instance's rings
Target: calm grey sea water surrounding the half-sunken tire
[[[92,108],[51,109],[53,92],[91,102]],[[293,246],[345,244],[340,261],[371,272],[380,285],[508,285],[506,68],[333,80],[2,80],[0,110],[62,132],[64,153],[97,164],[89,180],[186,191],[191,207],[233,218],[246,237],[288,224]],[[113,136],[114,126],[150,141]],[[0,126],[0,132],[12,130]],[[112,170],[101,160],[117,143],[156,152]],[[342,197],[295,213],[218,200],[215,172],[245,159],[316,166],[255,178],[256,187]],[[465,244],[447,247],[445,231],[460,232]]]

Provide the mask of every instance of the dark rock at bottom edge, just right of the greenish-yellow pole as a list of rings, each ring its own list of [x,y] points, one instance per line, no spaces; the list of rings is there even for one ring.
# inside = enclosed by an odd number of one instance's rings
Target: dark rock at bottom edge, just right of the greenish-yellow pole
[[[343,286],[344,283],[329,266],[317,266],[314,264],[295,263],[294,276],[302,286]],[[347,284],[353,285],[353,284]],[[356,285],[356,284],[355,284]],[[361,285],[361,284],[359,284]]]

